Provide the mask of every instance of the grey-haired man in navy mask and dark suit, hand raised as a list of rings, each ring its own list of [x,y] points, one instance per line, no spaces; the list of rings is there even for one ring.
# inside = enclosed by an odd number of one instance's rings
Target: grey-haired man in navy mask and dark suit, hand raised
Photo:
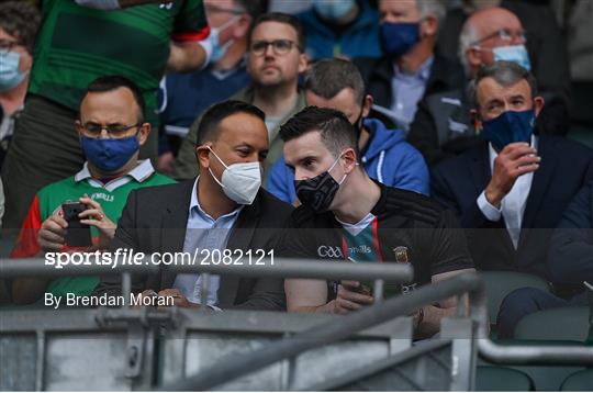
[[[482,68],[470,97],[477,125],[489,142],[437,166],[432,194],[470,229],[478,270],[552,280],[541,245],[593,177],[593,151],[560,137],[534,135],[544,99],[533,75],[515,63]]]

